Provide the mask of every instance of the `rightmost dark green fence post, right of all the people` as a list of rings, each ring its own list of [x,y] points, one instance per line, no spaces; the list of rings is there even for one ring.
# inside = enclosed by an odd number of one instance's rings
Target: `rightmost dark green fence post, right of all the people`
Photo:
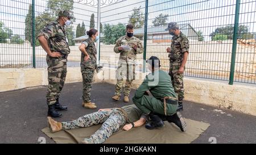
[[[238,33],[238,24],[239,24],[240,3],[241,3],[241,0],[237,0],[235,21],[234,21],[234,35],[233,35],[233,47],[232,47],[232,58],[231,58],[230,75],[229,75],[229,85],[233,85],[234,83],[234,69],[236,64],[237,33]]]

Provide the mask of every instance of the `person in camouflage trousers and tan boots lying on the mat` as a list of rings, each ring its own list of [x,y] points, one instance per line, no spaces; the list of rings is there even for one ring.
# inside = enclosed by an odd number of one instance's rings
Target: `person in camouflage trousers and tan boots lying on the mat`
[[[63,129],[85,128],[92,125],[102,124],[92,136],[85,138],[83,144],[101,144],[108,139],[112,133],[117,132],[119,128],[129,131],[133,127],[140,127],[148,120],[146,114],[143,114],[134,104],[124,106],[122,108],[101,109],[98,112],[82,116],[76,120],[68,122],[56,122],[48,117],[48,124],[51,132],[61,131]],[[176,125],[180,123],[179,119],[174,122]],[[180,126],[181,128],[181,126]]]

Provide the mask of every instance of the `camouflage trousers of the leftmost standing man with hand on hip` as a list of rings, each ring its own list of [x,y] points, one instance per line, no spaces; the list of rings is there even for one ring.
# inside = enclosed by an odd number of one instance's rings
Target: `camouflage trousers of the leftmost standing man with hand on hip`
[[[67,59],[46,58],[48,65],[48,89],[46,100],[48,105],[56,102],[60,97],[60,91],[63,89],[65,78],[67,76]]]

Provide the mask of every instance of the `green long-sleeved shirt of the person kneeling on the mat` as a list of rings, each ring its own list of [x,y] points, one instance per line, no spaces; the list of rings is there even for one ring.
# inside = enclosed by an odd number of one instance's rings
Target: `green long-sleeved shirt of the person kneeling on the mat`
[[[164,97],[176,98],[169,74],[163,70],[158,71],[159,72],[155,72],[154,75],[150,73],[146,76],[141,86],[135,91],[135,98],[143,97],[147,90],[149,90],[156,99],[162,99]]]

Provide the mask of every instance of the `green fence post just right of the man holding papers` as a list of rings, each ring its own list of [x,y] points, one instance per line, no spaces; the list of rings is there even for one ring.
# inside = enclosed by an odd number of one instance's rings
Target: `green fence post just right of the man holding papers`
[[[146,72],[146,56],[147,56],[147,14],[148,14],[148,0],[145,1],[145,19],[144,19],[144,52],[143,52],[143,73]]]

